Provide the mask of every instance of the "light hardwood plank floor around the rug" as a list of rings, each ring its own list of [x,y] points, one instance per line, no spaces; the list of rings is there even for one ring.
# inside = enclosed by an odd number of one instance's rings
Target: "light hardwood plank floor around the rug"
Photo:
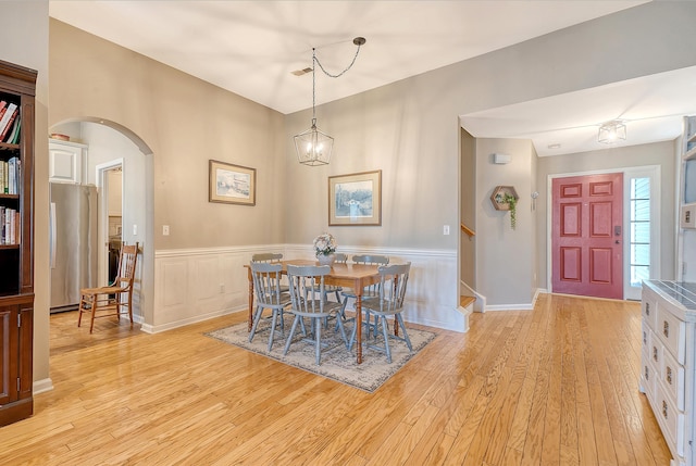
[[[204,337],[51,317],[54,390],[1,465],[657,465],[637,303],[544,294],[474,314],[369,394]]]

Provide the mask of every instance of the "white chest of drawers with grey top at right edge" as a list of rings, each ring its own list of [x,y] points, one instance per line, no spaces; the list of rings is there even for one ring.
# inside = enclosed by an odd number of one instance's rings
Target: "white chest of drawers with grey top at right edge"
[[[695,466],[696,284],[643,282],[641,391],[672,453],[672,466]]]

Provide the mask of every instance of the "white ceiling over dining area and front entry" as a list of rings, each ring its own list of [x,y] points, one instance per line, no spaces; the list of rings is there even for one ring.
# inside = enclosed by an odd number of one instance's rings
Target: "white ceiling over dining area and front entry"
[[[355,54],[352,39],[366,38],[344,76],[318,71],[321,104],[645,1],[49,0],[49,12],[287,114],[311,108],[311,74],[291,72],[311,67],[313,47],[339,73]],[[475,137],[532,139],[539,155],[596,149],[598,123],[614,118],[627,121],[630,143],[673,139],[680,116],[696,113],[683,103],[696,102],[683,93],[683,86],[696,90],[694,76],[687,70],[462,115],[462,126]],[[549,151],[550,143],[561,149]]]

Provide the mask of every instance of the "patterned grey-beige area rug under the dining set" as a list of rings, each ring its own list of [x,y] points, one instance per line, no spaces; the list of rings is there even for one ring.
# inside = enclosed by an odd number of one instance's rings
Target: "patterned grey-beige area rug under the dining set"
[[[412,352],[409,352],[405,342],[389,340],[389,350],[391,351],[390,364],[387,363],[384,352],[371,349],[369,345],[365,345],[363,341],[362,364],[358,364],[356,362],[355,345],[352,351],[348,352],[340,333],[334,332],[332,325],[328,330],[324,329],[322,331],[322,342],[325,344],[322,345],[321,365],[318,366],[314,364],[314,345],[306,341],[300,341],[302,340],[302,335],[299,329],[293,337],[294,341],[290,344],[287,355],[284,356],[283,349],[285,348],[286,337],[276,330],[273,348],[271,352],[269,352],[269,322],[261,322],[259,324],[259,329],[257,329],[253,341],[251,342],[249,342],[246,322],[210,331],[206,333],[206,336],[370,393],[378,389],[389,377],[403,367],[409,360],[415,356],[420,350],[433,341],[436,336],[432,331],[409,328],[409,338],[413,347]],[[286,332],[289,332],[290,325],[291,320],[286,320]],[[261,328],[261,326],[263,326],[263,328]],[[346,325],[348,338],[350,338],[351,329],[352,327]],[[382,337],[376,340],[376,343],[375,340],[370,340],[370,344],[383,344],[383,342],[384,339]]]

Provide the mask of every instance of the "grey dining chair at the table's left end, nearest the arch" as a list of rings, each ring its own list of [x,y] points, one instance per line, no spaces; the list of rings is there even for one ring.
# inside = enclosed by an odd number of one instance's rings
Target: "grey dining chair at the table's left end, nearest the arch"
[[[269,351],[271,351],[277,325],[281,326],[281,333],[285,335],[283,313],[290,304],[290,294],[287,290],[284,291],[281,286],[281,276],[283,270],[282,264],[252,261],[249,266],[251,267],[253,290],[257,298],[253,325],[249,332],[249,342],[253,340],[259,323],[263,319],[263,311],[271,310],[271,331],[269,335]]]

